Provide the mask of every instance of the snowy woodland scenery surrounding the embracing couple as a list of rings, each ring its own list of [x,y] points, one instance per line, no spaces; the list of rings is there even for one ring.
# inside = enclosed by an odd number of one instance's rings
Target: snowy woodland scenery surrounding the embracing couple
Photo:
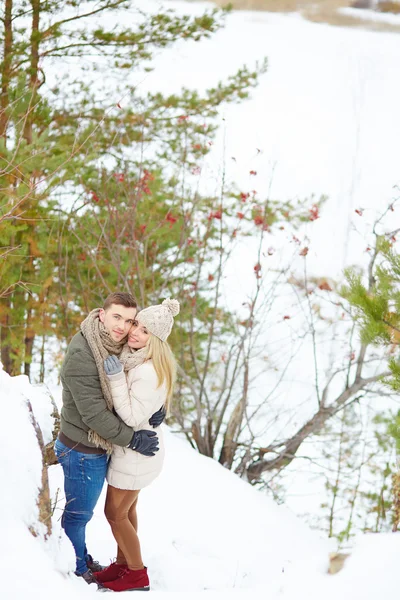
[[[53,447],[66,349],[115,291],[180,302],[152,593],[389,597],[400,2],[3,0],[0,32],[1,597],[95,593]]]

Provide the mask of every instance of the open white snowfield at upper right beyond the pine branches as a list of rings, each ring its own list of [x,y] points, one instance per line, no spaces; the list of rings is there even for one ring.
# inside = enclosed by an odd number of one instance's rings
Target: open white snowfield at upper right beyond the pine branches
[[[162,5],[195,14],[212,6]],[[310,224],[308,268],[339,277],[346,264],[365,261],[364,235],[398,195],[398,35],[310,23],[296,14],[237,11],[210,40],[160,53],[139,89],[202,91],[265,56],[268,72],[250,100],[221,110],[220,136],[200,178],[218,189],[225,167],[228,181],[256,189],[260,198],[309,197],[311,205],[313,194],[327,195],[322,217]],[[356,209],[363,209],[362,218]],[[274,242],[271,236],[267,243]],[[253,257],[246,240],[229,271],[238,305],[254,283]]]

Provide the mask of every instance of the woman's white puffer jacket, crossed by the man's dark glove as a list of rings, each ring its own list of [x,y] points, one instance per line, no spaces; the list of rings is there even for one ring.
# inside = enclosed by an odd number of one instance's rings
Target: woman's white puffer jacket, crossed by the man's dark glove
[[[160,473],[164,462],[164,440],[160,427],[153,429],[149,418],[167,398],[165,384],[158,386],[157,373],[151,360],[109,377],[114,408],[121,419],[135,431],[156,431],[159,451],[143,456],[130,448],[114,446],[107,471],[107,482],[122,490],[141,490]]]

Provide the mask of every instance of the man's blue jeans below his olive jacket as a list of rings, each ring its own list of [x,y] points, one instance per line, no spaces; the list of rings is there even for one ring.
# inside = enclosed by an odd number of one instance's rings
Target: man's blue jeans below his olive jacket
[[[54,444],[58,462],[64,471],[65,508],[62,527],[76,554],[76,573],[84,573],[89,559],[86,525],[93,516],[107,472],[107,454],[84,454],[71,450],[60,440]]]

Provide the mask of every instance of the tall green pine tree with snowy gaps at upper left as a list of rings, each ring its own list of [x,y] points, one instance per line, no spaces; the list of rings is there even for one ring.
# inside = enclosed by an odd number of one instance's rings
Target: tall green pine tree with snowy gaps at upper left
[[[127,74],[147,68],[157,49],[181,39],[208,37],[221,27],[224,12],[195,18],[170,11],[138,12],[136,24],[125,26],[131,2],[92,0],[85,6],[83,12],[75,0],[6,0],[3,7],[0,327],[1,360],[12,374],[24,368],[29,375],[35,336],[56,333],[68,338],[77,309],[88,308],[88,293],[97,299],[122,283],[115,277],[111,255],[104,274],[104,261],[100,265],[97,257],[89,271],[82,269],[87,241],[79,237],[86,230],[93,239],[91,221],[99,225],[102,216],[97,207],[90,209],[96,197],[106,200],[106,188],[113,193],[112,173],[142,181],[155,165],[169,172],[162,182],[157,179],[158,216],[165,218],[174,189],[173,169],[182,164],[188,170],[195,168],[208,151],[206,139],[215,131],[213,117],[220,103],[245,98],[265,70],[264,63],[254,71],[243,68],[204,96],[190,90],[179,96],[141,96]],[[119,16],[123,25],[98,25],[97,18],[109,15]],[[89,56],[92,60],[87,63]],[[77,59],[83,65],[81,72],[63,74],[48,89],[49,69],[54,72],[57,62]],[[99,90],[93,85],[96,69],[113,75],[111,101],[107,86]],[[143,157],[145,146],[151,148],[148,158]],[[113,165],[107,173],[100,168],[100,159]],[[105,187],[99,196],[100,185]],[[121,186],[116,191],[115,210],[124,210],[123,202],[118,205]],[[132,245],[137,242],[136,237],[130,240]],[[86,287],[88,278],[93,285]],[[141,296],[145,299],[143,290]]]

